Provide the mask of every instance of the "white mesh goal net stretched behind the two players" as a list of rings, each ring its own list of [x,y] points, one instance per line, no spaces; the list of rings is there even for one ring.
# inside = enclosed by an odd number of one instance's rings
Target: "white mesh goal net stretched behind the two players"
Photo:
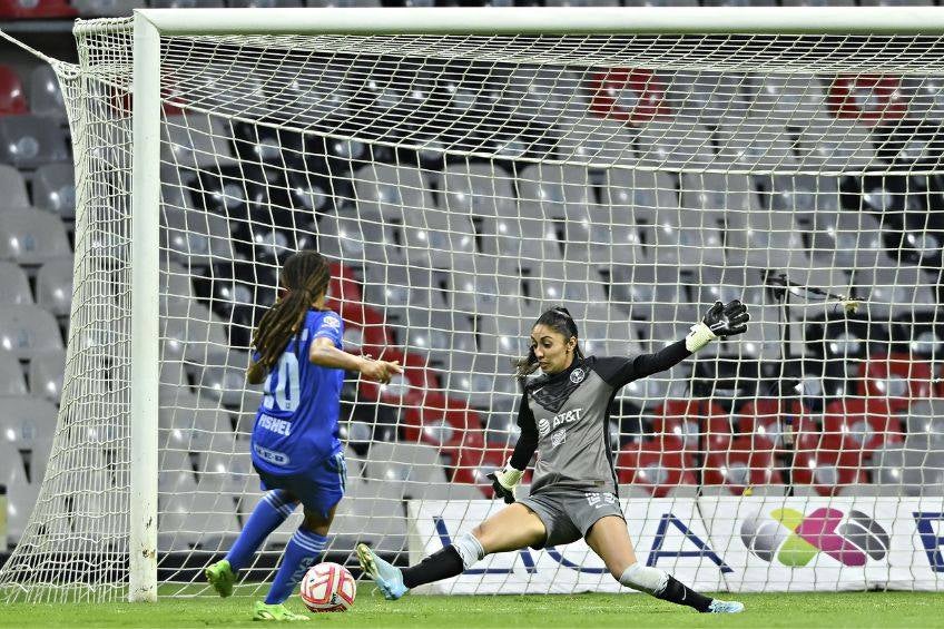
[[[611,401],[642,560],[712,590],[941,588],[940,37],[481,31],[160,37],[161,594],[213,593],[203,568],[260,499],[249,338],[306,248],[345,350],[406,367],[345,381],[330,560],[415,560],[498,509],[510,360],[544,308],[584,354],[627,356],[739,298],[747,334]],[[76,35],[68,367],[11,599],[129,588],[135,33]],[[443,591],[618,588],[580,544],[483,567]]]

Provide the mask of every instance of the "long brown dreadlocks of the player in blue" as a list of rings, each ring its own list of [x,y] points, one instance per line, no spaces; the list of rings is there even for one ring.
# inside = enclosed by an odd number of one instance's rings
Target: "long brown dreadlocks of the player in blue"
[[[246,371],[249,384],[260,384],[265,380],[285,346],[298,333],[312,303],[327,291],[330,281],[327,261],[317,252],[298,252],[285,261],[278,278],[285,293],[266,311],[253,333],[253,347],[259,353],[259,360]]]

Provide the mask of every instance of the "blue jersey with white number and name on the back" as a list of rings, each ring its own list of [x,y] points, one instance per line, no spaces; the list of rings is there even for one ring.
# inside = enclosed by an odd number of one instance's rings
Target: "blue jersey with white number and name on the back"
[[[297,474],[324,465],[341,452],[337,419],[344,370],[308,361],[315,338],[342,347],[344,324],[331,311],[308,311],[265,381],[253,429],[253,463],[269,474]]]

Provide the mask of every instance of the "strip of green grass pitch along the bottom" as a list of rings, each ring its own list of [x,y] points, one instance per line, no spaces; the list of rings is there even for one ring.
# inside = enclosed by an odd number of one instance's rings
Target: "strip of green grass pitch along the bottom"
[[[358,586],[351,611],[312,615],[312,622],[302,625],[370,629],[944,628],[944,594],[940,593],[724,594],[744,601],[747,610],[721,617],[695,613],[640,594],[407,596],[389,602],[370,583]],[[262,623],[249,619],[252,602],[249,597],[236,596],[164,598],[156,605],[11,603],[0,606],[0,627],[259,627]],[[289,606],[303,609],[298,598]]]

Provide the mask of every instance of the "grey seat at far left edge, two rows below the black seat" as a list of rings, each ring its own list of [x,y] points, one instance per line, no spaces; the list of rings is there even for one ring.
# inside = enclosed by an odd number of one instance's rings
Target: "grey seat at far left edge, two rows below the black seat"
[[[0,212],[0,259],[33,266],[70,254],[59,217],[35,209]]]

